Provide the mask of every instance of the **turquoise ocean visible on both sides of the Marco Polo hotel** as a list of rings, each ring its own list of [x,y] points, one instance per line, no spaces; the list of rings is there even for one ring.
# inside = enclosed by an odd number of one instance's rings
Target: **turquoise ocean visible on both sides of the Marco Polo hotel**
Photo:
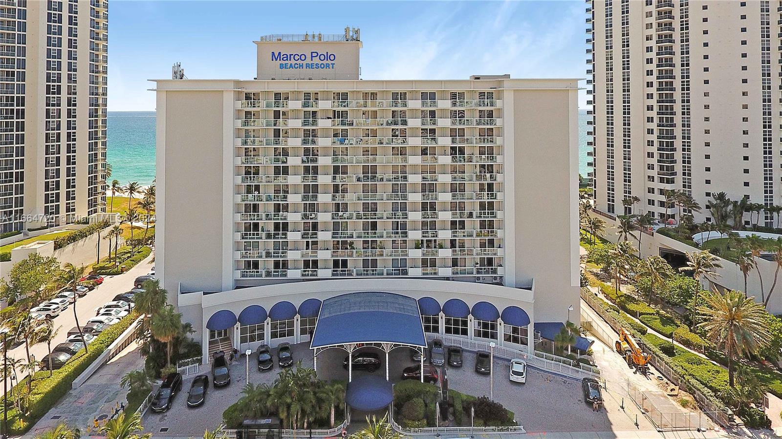
[[[106,160],[111,180],[120,184],[155,178],[155,112],[109,111],[106,116]],[[587,177],[587,110],[579,109],[579,173]],[[111,181],[109,181],[109,185]]]

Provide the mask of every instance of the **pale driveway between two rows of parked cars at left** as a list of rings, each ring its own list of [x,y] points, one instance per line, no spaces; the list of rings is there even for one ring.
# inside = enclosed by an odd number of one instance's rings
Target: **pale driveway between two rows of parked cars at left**
[[[152,258],[154,253],[147,259],[139,262],[135,267],[128,270],[127,273],[120,274],[118,276],[107,276],[103,280],[103,283],[94,290],[90,291],[83,298],[78,298],[76,301],[77,316],[79,317],[79,324],[84,323],[95,317],[95,308],[104,305],[106,302],[110,302],[117,294],[124,293],[133,289],[133,280],[142,274],[149,273],[154,265]],[[68,306],[67,309],[60,312],[59,316],[54,318],[55,328],[59,328],[59,333],[54,337],[52,341],[52,348],[57,344],[62,343],[68,337],[68,330],[76,326],[76,319],[74,319],[74,304]],[[45,343],[38,343],[30,346],[30,355],[34,355],[35,359],[40,361],[48,354],[48,349]],[[27,362],[27,355],[25,355],[24,344],[20,344],[16,348],[9,349],[9,359],[21,359],[23,362]],[[2,358],[0,358],[2,361]],[[22,373],[17,369],[17,377],[22,380],[27,377],[27,373]],[[11,383],[9,381],[9,389]],[[0,388],[0,395],[4,394],[2,388]]]

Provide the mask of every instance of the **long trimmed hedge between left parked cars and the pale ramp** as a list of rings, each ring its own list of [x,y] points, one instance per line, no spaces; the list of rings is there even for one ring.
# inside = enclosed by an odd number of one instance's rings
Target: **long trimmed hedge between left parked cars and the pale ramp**
[[[109,347],[128,327],[138,318],[136,312],[131,312],[125,316],[119,323],[104,330],[95,340],[89,344],[89,353],[84,350],[77,352],[73,358],[66,362],[65,366],[57,369],[48,376],[48,371],[40,370],[35,373],[32,383],[32,391],[27,399],[27,415],[23,415],[14,407],[9,409],[9,430],[10,434],[24,434],[30,429],[38,419],[45,416],[54,405],[70,391],[73,381],[81,375]],[[11,389],[9,397],[16,399],[16,394],[27,394],[27,380]]]

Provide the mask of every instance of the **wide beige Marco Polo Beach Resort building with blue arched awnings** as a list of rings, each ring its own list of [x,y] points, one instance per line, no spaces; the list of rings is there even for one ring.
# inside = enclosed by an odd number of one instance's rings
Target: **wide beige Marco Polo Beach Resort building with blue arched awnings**
[[[204,358],[308,341],[353,291],[525,349],[577,322],[578,80],[361,80],[360,48],[269,35],[253,80],[156,80],[156,270]]]

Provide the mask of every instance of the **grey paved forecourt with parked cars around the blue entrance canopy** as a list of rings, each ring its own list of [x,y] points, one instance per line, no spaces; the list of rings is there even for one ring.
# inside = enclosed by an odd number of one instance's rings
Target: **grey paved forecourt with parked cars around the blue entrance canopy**
[[[296,361],[302,360],[303,366],[313,366],[309,344],[295,344],[292,348]],[[380,355],[381,367],[373,374],[382,376],[386,373],[385,354],[376,352]],[[276,351],[274,354],[276,355]],[[345,356],[346,352],[341,349],[328,349],[322,352],[318,355],[318,375],[326,380],[346,380],[348,373],[342,366]],[[389,359],[389,377],[394,383],[400,381],[404,367],[415,364],[411,360],[411,351],[408,348],[395,349],[390,353]],[[448,367],[450,388],[465,394],[488,396],[490,377],[475,373],[474,366],[475,354],[465,352],[462,368]],[[507,360],[495,358],[493,367],[495,401],[515,412],[516,421],[530,433],[637,431],[633,423],[637,409],[629,400],[625,402],[625,409],[622,409],[619,402],[621,397],[612,397],[611,389],[608,389],[608,393],[604,395],[605,408],[601,412],[593,412],[591,406],[583,401],[581,383],[578,380],[529,368],[526,384],[516,384],[508,380],[510,366]],[[208,373],[209,366],[202,366],[202,370],[202,373]],[[274,369],[271,371],[259,372],[254,355],[249,359],[249,380],[253,384],[271,384],[277,377],[278,371],[275,362]],[[366,373],[368,372],[354,370],[353,377]],[[143,425],[147,432],[168,437],[198,436],[203,434],[204,430],[220,425],[222,413],[228,405],[240,398],[242,387],[246,384],[246,357],[242,357],[231,366],[231,384],[228,387],[220,389],[210,387],[204,405],[189,409],[185,399],[193,377],[195,375],[185,378],[182,391],[174,399],[172,409],[164,413],[150,411],[146,414]],[[640,415],[639,418],[640,430],[648,430],[650,426],[647,425],[644,416]]]

